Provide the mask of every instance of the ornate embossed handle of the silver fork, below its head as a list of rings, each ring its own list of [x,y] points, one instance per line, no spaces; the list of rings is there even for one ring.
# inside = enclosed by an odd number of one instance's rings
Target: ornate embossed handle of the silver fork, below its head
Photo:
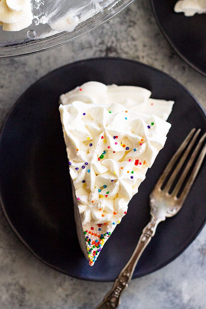
[[[137,262],[142,252],[145,250],[151,238],[155,234],[159,222],[159,220],[155,220],[154,218],[152,218],[151,221],[145,226],[137,243],[137,246],[132,253],[132,256],[128,260],[128,263],[120,272],[111,290],[107,293],[103,301],[95,309],[114,309],[119,306],[120,296],[124,289],[128,286]]]

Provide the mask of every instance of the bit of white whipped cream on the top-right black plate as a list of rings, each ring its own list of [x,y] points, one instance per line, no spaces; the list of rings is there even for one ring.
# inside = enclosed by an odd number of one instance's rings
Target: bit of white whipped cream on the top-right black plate
[[[179,0],[174,6],[174,11],[183,12],[185,16],[206,13],[206,0]]]

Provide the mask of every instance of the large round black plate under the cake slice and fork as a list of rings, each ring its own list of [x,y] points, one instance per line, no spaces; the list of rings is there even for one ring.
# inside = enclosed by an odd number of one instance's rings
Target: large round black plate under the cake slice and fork
[[[62,93],[95,80],[135,85],[153,98],[173,99],[172,128],[139,193],[94,266],[83,256],[75,230],[68,160],[58,99]],[[48,265],[83,279],[111,281],[134,250],[149,222],[149,193],[187,133],[206,130],[206,117],[188,91],[168,75],[136,61],[99,58],[63,66],[41,78],[17,101],[0,137],[0,195],[11,227]],[[206,220],[204,162],[183,209],[159,224],[133,277],[153,272],[178,256]]]

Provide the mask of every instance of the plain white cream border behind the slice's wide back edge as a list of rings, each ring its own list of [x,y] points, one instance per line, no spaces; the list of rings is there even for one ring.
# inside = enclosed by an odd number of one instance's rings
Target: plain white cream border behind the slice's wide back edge
[[[150,98],[151,91],[136,86],[105,85],[99,82],[87,82],[82,86],[62,94],[61,104],[71,104],[74,101],[93,104],[119,103],[126,109],[135,112],[156,115],[167,120],[174,101]]]

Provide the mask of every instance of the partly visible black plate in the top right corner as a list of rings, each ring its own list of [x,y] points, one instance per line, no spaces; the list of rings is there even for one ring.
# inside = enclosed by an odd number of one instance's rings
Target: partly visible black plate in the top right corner
[[[206,14],[175,13],[177,0],[151,0],[155,19],[173,49],[206,76]]]

